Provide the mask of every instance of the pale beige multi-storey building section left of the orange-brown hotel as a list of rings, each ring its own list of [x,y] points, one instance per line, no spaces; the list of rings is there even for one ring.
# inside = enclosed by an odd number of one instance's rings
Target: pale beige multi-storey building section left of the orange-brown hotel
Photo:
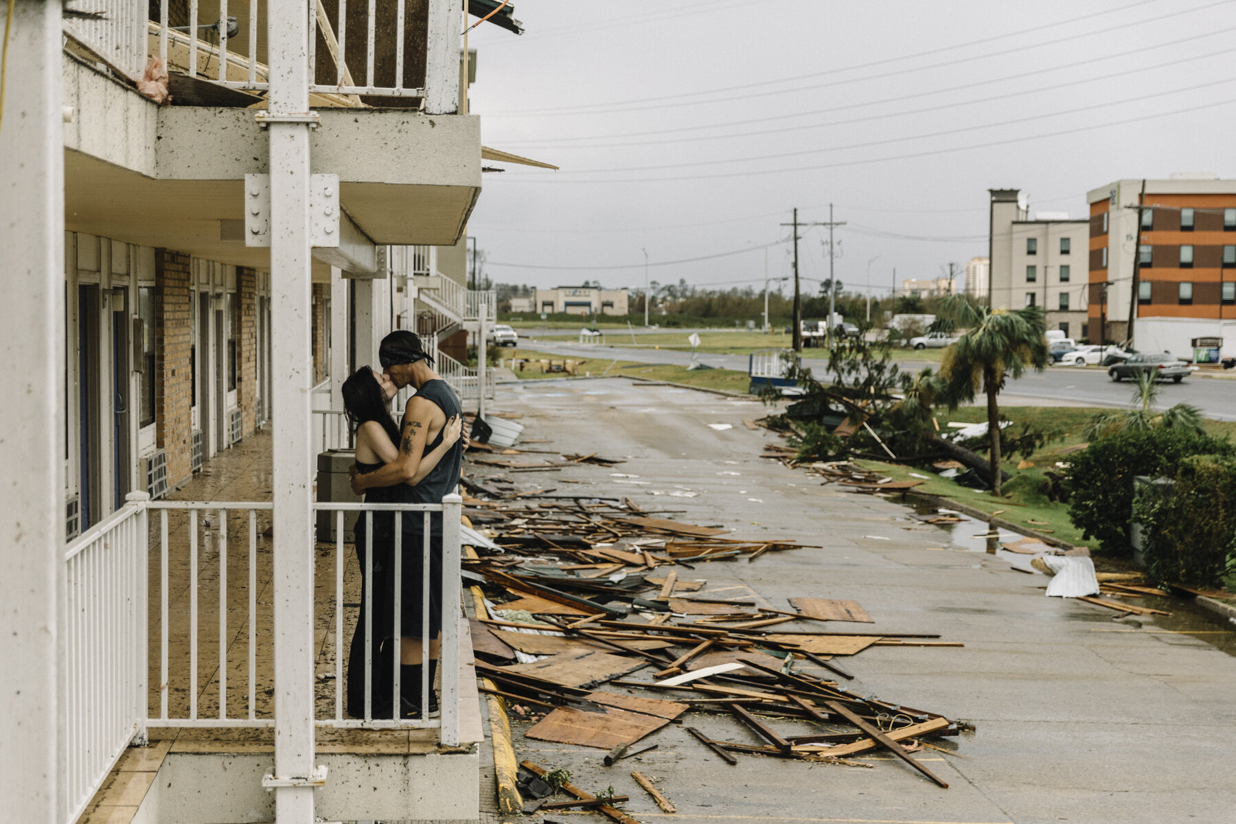
[[[1086,337],[1089,221],[1030,217],[1018,189],[991,189],[991,306],[1042,306],[1047,329]]]

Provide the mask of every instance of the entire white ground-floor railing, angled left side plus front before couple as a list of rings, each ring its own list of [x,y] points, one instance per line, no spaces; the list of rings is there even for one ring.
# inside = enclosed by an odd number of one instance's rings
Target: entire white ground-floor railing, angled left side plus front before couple
[[[460,740],[460,515],[461,499],[449,495],[441,504],[313,504],[334,521],[334,541],[326,551],[310,552],[316,587],[313,608],[315,629],[331,636],[318,650],[319,672],[334,673],[332,683],[309,681],[302,689],[315,696],[315,725],[326,728],[439,729],[444,745]],[[66,671],[66,752],[68,771],[67,822],[82,814],[125,747],[145,739],[150,726],[260,728],[274,724],[274,635],[272,598],[260,592],[272,586],[269,524],[271,503],[150,502],[133,493],[129,503],[73,541],[66,550],[68,573],[68,623]],[[150,513],[156,521],[148,526]],[[344,518],[442,516],[440,562],[440,613],[430,615],[421,604],[423,649],[429,649],[428,628],[441,626],[441,715],[429,718],[429,686],[423,683],[419,719],[373,718],[367,705],[361,718],[347,718],[344,702],[345,587],[355,588],[358,568],[349,568],[353,550],[345,542]],[[429,534],[428,529],[421,530]],[[372,528],[368,535],[373,535]],[[402,530],[396,531],[402,535]],[[325,537],[325,536],[324,536]],[[402,539],[396,539],[394,625],[402,635],[399,603],[404,574]],[[261,549],[261,551],[260,551]],[[372,540],[367,542],[365,568],[366,650],[373,640]],[[420,592],[430,589],[428,541],[413,550],[419,556]],[[409,557],[417,557],[409,556]],[[147,570],[154,565],[156,577]],[[410,571],[409,571],[410,572]],[[150,581],[150,584],[147,583]],[[326,584],[325,582],[330,582]],[[148,586],[153,587],[151,595]],[[158,605],[158,625],[147,626],[151,603]],[[153,614],[153,613],[152,613]],[[361,616],[357,618],[360,620]],[[435,620],[430,620],[430,619]],[[332,630],[332,633],[331,633]],[[383,633],[387,628],[382,628]],[[398,655],[399,645],[391,645]],[[154,666],[150,666],[151,658]],[[372,686],[373,657],[366,655],[366,686]],[[399,697],[399,667],[393,667],[392,694]],[[425,675],[428,681],[428,673]],[[158,684],[152,692],[151,683]],[[384,688],[384,684],[378,684]],[[368,694],[368,689],[366,691]],[[154,710],[147,703],[153,699]],[[397,704],[398,705],[398,704]]]

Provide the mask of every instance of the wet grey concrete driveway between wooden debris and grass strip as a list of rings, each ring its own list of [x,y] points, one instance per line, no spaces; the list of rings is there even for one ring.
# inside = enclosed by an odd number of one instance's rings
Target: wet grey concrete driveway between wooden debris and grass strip
[[[764,414],[754,400],[601,379],[504,385],[496,406],[524,413],[524,435],[550,441],[536,448],[627,458],[513,481],[559,494],[630,495],[646,509],[675,510],[666,518],[723,524],[735,537],[822,545],[680,574],[706,578],[707,589],[726,593],[719,597],[754,592],[776,609],[797,595],[854,599],[878,631],[964,642],[871,647],[838,662],[857,675],[847,683],[857,692],[976,725],[942,745],[955,741],[955,755],[920,754],[949,789],[881,755],[861,759],[871,770],[751,756],[732,767],[676,725],[640,742],[656,750],[606,768],[602,751],[523,740],[527,724],[517,723],[519,757],[566,767],[590,792],[612,784],[632,797],[624,807],[640,822],[666,814],[632,770],[654,778],[684,824],[1232,820],[1236,658],[1222,651],[1231,644],[1210,642],[1231,633],[1164,633],[1169,623],[1114,621],[1099,607],[1046,598],[1044,577],[950,545],[947,532],[911,519],[904,505],[821,487],[760,458],[772,436],[742,424]],[[758,742],[724,717],[687,723]]]

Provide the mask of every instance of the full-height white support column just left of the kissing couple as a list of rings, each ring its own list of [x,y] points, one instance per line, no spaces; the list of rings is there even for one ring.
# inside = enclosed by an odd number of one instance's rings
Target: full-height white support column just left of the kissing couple
[[[309,246],[309,14],[267,5],[271,67],[271,341],[274,502],[274,814],[313,824],[313,387]]]

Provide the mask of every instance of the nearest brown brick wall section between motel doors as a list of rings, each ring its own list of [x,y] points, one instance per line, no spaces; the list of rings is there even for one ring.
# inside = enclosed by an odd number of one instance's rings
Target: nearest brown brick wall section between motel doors
[[[184,484],[192,471],[193,376],[189,368],[193,293],[189,256],[154,252],[154,420],[156,444],[167,451],[167,486]]]

